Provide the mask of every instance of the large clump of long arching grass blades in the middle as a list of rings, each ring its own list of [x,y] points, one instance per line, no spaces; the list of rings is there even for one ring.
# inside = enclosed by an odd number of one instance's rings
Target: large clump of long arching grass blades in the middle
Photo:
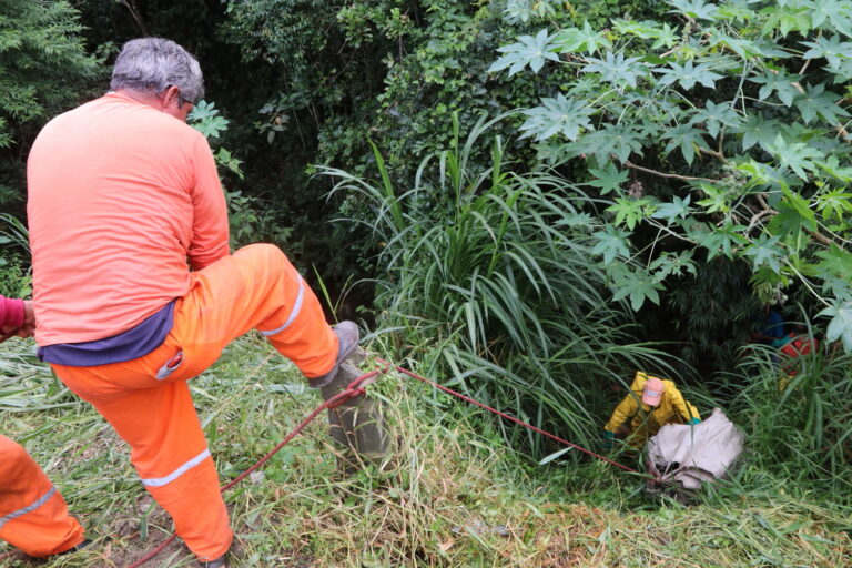
[[[454,121],[450,148],[425,158],[406,191],[375,148],[378,183],[322,172],[373,215],[359,221],[379,244],[378,324],[397,329],[396,355],[590,444],[609,410],[605,385],[660,354],[633,343],[626,307],[609,301],[581,189],[514,172],[499,136],[490,155],[476,153],[496,120],[480,120],[463,146]],[[546,449],[535,436],[516,442]]]

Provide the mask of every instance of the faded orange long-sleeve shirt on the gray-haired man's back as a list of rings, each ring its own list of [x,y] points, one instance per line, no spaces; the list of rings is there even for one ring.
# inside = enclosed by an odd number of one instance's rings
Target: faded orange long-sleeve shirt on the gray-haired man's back
[[[190,265],[229,254],[204,136],[121,93],[49,122],[27,178],[41,346],[130,329],[186,293]]]

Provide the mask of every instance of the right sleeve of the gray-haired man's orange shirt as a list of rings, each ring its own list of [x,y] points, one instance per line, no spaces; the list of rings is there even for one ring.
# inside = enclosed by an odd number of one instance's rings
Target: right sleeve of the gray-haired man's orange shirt
[[[204,136],[199,136],[193,152],[195,185],[192,187],[192,242],[189,256],[197,271],[227,256],[227,205],[219,181],[213,152]]]

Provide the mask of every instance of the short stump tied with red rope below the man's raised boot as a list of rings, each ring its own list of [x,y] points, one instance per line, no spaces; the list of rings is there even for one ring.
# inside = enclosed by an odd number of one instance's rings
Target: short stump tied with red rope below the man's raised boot
[[[323,398],[331,399],[363,374],[352,359],[343,363],[337,376],[323,387]],[[342,449],[339,465],[344,471],[353,473],[364,463],[379,465],[386,457],[390,437],[382,410],[382,403],[367,395],[328,408],[328,434]]]

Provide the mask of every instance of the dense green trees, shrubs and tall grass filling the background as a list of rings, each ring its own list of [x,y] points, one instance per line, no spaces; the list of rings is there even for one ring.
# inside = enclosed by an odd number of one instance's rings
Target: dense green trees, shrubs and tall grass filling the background
[[[589,446],[648,368],[746,430],[740,488],[849,505],[852,1],[24,3],[0,0],[0,293],[29,293],[32,138],[163,36],[205,71],[234,246],[280,244],[383,355]],[[749,341],[770,303],[821,342],[792,379]]]

